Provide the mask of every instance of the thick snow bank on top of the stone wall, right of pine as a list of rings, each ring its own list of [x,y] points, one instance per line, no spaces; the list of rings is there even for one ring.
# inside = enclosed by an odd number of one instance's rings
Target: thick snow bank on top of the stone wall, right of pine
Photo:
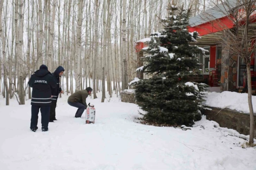
[[[236,92],[212,92],[206,93],[205,105],[210,107],[228,108],[238,112],[250,113],[248,106],[248,94]],[[256,96],[252,96],[252,106],[256,113]]]

